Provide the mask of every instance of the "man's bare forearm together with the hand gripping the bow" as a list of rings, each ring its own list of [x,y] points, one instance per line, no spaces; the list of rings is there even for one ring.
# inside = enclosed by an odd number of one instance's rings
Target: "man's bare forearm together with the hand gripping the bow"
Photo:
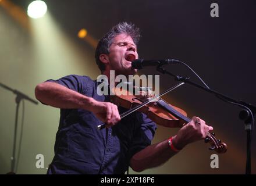
[[[112,127],[120,121],[118,107],[113,103],[96,101],[58,83],[38,84],[35,87],[35,97],[46,105],[56,108],[89,110],[104,122],[106,127]]]

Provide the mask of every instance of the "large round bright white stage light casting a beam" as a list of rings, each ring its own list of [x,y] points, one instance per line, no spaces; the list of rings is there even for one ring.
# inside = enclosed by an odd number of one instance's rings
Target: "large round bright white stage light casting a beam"
[[[33,1],[27,7],[27,15],[33,19],[40,18],[47,12],[47,5],[44,1]]]

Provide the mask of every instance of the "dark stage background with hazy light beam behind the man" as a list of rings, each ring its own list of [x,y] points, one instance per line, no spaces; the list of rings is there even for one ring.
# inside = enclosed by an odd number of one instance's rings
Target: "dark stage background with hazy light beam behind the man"
[[[247,1],[46,1],[48,12],[41,19],[22,13],[30,1],[0,1],[0,82],[34,97],[34,87],[49,78],[84,74],[96,78],[95,42],[113,25],[131,22],[140,27],[138,53],[143,59],[179,59],[189,64],[212,89],[256,105],[255,95],[255,6]],[[7,1],[6,1],[7,2]],[[219,17],[211,17],[211,3],[218,3]],[[2,6],[1,6],[2,5]],[[17,8],[19,7],[19,8]],[[85,38],[77,37],[86,28]],[[167,67],[190,76],[184,66]],[[140,74],[159,74],[154,67]],[[161,90],[176,84],[160,76]],[[15,95],[0,88],[0,173],[10,170]],[[218,138],[229,146],[219,155],[219,168],[211,169],[208,145],[196,142],[167,163],[140,174],[243,174],[246,166],[246,132],[239,120],[241,110],[191,85],[165,96],[173,105],[199,116],[214,127]],[[44,174],[54,155],[59,110],[26,102],[18,174]],[[21,111],[20,111],[21,113]],[[21,119],[21,117],[20,117]],[[18,131],[21,125],[19,124]],[[158,127],[154,143],[174,135],[177,129]],[[18,133],[20,136],[20,132]],[[255,131],[254,134],[255,135]],[[251,165],[256,173],[255,136]],[[19,144],[19,143],[18,143]],[[44,169],[35,167],[36,155],[44,155]],[[130,171],[133,174],[133,171]]]

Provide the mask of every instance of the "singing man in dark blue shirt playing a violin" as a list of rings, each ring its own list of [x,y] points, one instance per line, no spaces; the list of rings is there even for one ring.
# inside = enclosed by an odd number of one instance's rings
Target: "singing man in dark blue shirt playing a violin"
[[[102,74],[135,74],[131,61],[138,58],[139,30],[119,23],[98,42],[95,60]],[[35,88],[36,98],[61,109],[48,174],[124,174],[165,163],[184,146],[202,140],[213,130],[199,117],[184,125],[173,137],[151,144],[156,124],[141,112],[120,120],[126,109],[98,95],[98,82],[87,76],[69,75],[47,80]],[[106,128],[97,126],[105,122]]]

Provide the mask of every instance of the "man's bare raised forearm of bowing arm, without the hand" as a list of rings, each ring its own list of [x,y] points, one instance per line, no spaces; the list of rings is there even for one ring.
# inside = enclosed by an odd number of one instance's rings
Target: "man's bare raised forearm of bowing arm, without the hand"
[[[93,104],[93,98],[53,82],[38,84],[35,87],[35,97],[42,103],[62,109],[90,110]]]

